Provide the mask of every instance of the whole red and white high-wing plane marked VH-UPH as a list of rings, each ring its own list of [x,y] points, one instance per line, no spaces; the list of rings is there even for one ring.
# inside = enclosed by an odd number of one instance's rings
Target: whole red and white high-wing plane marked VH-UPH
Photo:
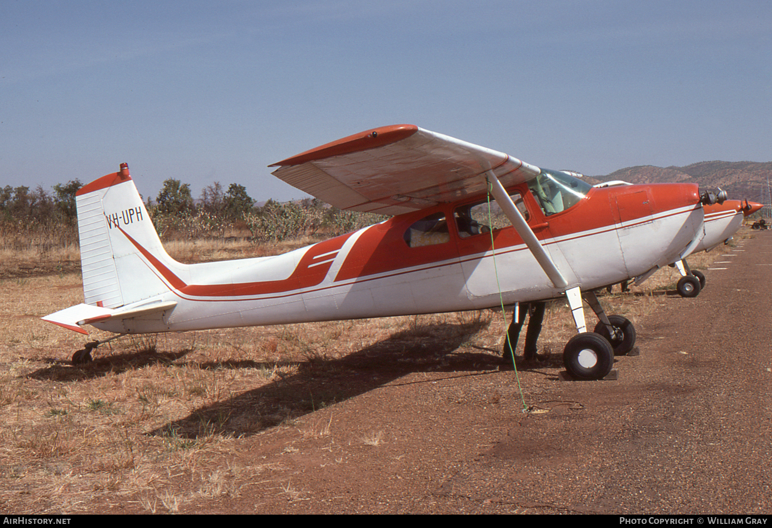
[[[392,218],[283,255],[184,265],[164,251],[121,164],[76,195],[85,303],[43,319],[124,335],[562,297],[577,327],[564,349],[566,369],[600,379],[615,353],[631,350],[635,330],[624,317],[606,316],[594,290],[689,255],[709,200],[696,184],[592,188],[567,172],[413,125],[367,130],[272,167],[337,208]],[[508,225],[476,215],[490,199]],[[597,333],[587,332],[583,297],[600,320]],[[73,363],[90,360],[97,344]]]

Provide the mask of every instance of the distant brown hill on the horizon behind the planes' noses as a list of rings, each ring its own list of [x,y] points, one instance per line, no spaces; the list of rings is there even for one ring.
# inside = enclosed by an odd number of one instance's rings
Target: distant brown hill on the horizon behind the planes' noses
[[[702,190],[724,189],[733,200],[769,203],[767,178],[772,180],[772,161],[700,161],[686,167],[654,167],[638,165],[623,168],[605,176],[593,176],[587,181],[622,180],[635,184],[684,181],[699,184]]]

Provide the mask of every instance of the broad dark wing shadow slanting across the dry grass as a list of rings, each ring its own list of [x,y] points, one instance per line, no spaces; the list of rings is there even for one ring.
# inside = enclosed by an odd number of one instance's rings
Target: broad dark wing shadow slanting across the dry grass
[[[405,374],[494,371],[499,367],[499,356],[464,346],[486,324],[480,321],[415,327],[340,359],[310,357],[299,364],[296,374],[277,374],[262,387],[198,408],[150,434],[178,438],[252,435],[371,391]]]

